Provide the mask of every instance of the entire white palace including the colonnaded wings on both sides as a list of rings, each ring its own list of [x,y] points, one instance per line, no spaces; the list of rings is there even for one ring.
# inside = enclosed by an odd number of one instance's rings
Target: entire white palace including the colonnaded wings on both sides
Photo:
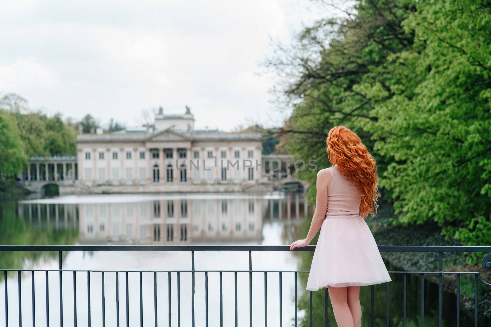
[[[82,133],[73,156],[31,157],[19,173],[31,191],[60,193],[272,191],[295,171],[290,155],[262,155],[260,133],[194,129],[189,107],[151,128]]]

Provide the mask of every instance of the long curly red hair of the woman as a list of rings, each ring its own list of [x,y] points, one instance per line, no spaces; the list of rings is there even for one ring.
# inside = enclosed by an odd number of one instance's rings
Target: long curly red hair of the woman
[[[375,159],[355,132],[345,126],[331,128],[326,143],[329,162],[332,164],[334,157],[339,171],[346,174],[351,184],[358,189],[358,195],[361,196],[359,215],[363,217],[368,212],[376,216],[379,188]]]

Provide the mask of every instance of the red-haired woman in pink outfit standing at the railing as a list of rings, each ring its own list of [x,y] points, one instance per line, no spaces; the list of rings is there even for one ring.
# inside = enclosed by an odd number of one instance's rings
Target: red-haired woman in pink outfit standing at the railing
[[[377,166],[359,137],[344,126],[333,127],[326,143],[333,165],[317,173],[310,229],[290,250],[309,245],[321,229],[306,289],[327,287],[338,327],[360,327],[360,286],[392,280],[365,222],[369,213],[377,214]]]

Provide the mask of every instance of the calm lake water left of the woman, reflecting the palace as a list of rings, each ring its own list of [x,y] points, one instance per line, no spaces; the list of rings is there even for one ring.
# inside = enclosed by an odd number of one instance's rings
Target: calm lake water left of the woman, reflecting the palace
[[[304,194],[105,194],[69,195],[2,203],[8,235],[1,244],[17,245],[289,245],[297,239],[300,221],[307,216]],[[3,228],[3,227],[2,227]],[[298,253],[253,252],[254,270],[296,270]],[[2,267],[56,270],[57,253],[1,253]],[[64,270],[91,270],[90,321],[102,326],[102,273],[118,274],[119,323],[126,326],[126,273],[130,326],[140,324],[139,273],[135,270],[191,270],[191,252],[70,251],[63,253]],[[239,251],[195,252],[195,270],[248,270],[248,253]],[[219,273],[209,272],[209,326],[219,326]],[[155,326],[154,273],[142,273],[143,323]],[[178,323],[191,326],[191,273],[157,273],[158,326]],[[4,291],[3,275],[0,291]],[[222,273],[223,321],[235,321],[234,273]],[[205,326],[205,273],[195,273],[195,326]],[[9,326],[19,326],[18,275],[8,273]],[[88,276],[75,277],[78,326],[88,326]],[[32,324],[32,275],[21,274],[21,309],[24,326]],[[48,274],[50,326],[60,326],[59,273]],[[62,273],[63,326],[74,326],[74,274]],[[34,273],[36,326],[46,326],[46,273]],[[282,320],[290,326],[294,313],[294,275],[282,274]],[[279,274],[267,276],[268,323],[279,326]],[[301,287],[299,285],[299,293]],[[249,274],[237,273],[239,326],[249,326]],[[116,326],[116,273],[104,273],[105,320]],[[252,274],[253,326],[264,326],[264,273]],[[5,307],[0,296],[0,308]],[[0,312],[1,312],[0,311]],[[4,326],[0,313],[0,326]]]

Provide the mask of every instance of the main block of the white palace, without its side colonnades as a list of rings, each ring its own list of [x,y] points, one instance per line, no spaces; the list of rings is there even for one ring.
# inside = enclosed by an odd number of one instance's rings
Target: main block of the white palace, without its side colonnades
[[[163,111],[153,128],[79,134],[77,184],[96,193],[247,191],[269,185],[259,133],[196,130],[189,107],[184,114]]]

